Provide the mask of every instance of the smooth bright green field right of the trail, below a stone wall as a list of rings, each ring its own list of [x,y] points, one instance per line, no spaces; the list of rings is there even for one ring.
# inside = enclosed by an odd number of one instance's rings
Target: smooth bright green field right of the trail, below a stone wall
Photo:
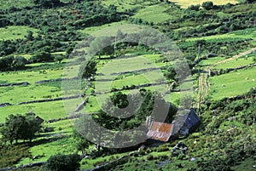
[[[256,67],[247,70],[234,71],[224,75],[210,77],[212,83],[209,94],[212,100],[221,100],[224,97],[236,96],[247,93],[255,87]],[[247,79],[246,79],[247,78]]]

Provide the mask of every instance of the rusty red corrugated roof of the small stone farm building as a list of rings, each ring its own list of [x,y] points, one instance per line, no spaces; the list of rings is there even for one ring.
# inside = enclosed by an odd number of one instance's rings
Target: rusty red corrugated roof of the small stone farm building
[[[153,140],[168,141],[172,135],[173,124],[169,123],[151,123],[151,127],[148,130],[148,138]]]

